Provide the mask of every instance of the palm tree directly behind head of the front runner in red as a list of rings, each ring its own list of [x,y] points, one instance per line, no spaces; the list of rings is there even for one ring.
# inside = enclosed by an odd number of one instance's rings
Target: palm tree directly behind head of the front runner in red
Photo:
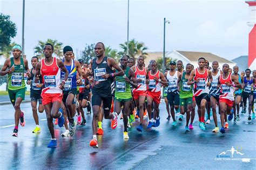
[[[53,56],[57,56],[59,58],[63,57],[63,49],[62,45],[63,43],[58,42],[58,40],[53,40],[53,39],[47,39],[46,42],[43,42],[42,40],[38,41],[38,45],[34,48],[34,53],[37,55],[38,58],[43,58],[44,57],[44,45],[46,43],[50,43],[53,45]]]

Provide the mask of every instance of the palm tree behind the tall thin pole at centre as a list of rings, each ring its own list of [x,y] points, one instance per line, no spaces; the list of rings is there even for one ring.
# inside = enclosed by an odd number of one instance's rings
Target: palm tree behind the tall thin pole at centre
[[[122,52],[119,52],[119,55],[123,56],[126,55],[127,52],[127,42],[124,44],[119,44],[121,49],[123,49]],[[138,56],[146,57],[147,53],[145,50],[147,50],[147,47],[143,42],[137,42],[135,39],[132,39],[129,41],[129,56],[133,59],[136,59]]]

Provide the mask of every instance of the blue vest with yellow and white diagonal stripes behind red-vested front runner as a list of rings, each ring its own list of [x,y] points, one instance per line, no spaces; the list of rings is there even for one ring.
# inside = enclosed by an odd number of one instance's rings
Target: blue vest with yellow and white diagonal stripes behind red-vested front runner
[[[71,89],[76,89],[77,88],[77,69],[76,69],[76,65],[75,65],[75,61],[72,59],[71,60],[71,65],[65,65],[66,69],[69,71],[69,77],[68,79],[66,79],[66,83],[64,85],[64,91],[68,91]],[[65,72],[61,72],[61,77],[62,80],[64,80],[65,77]]]

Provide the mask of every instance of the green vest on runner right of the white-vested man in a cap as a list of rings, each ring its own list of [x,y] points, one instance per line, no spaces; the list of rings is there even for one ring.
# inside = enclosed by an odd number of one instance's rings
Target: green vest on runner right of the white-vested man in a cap
[[[181,80],[179,82],[179,97],[181,99],[187,99],[193,97],[193,85],[187,85],[187,80],[185,78],[186,72],[183,72]]]

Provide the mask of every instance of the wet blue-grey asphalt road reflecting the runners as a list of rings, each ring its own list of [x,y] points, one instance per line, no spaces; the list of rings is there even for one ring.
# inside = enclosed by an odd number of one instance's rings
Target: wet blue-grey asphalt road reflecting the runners
[[[198,117],[194,130],[185,132],[185,121],[171,127],[167,121],[165,104],[160,104],[160,126],[143,133],[136,130],[136,122],[129,130],[128,141],[123,140],[123,121],[119,120],[116,130],[111,130],[110,121],[103,121],[104,135],[98,135],[99,148],[91,148],[91,116],[86,116],[87,124],[77,126],[76,134],[61,137],[64,127],[55,126],[57,148],[47,148],[51,137],[46,125],[45,113],[39,113],[40,134],[33,134],[35,128],[30,103],[22,104],[26,112],[24,127],[19,126],[19,137],[11,137],[14,126],[14,108],[0,106],[0,165],[1,169],[255,169],[256,160],[256,120],[248,122],[241,115],[237,125],[230,122],[226,134],[214,134],[214,123],[201,131]],[[219,119],[219,115],[218,115]],[[10,126],[9,126],[10,125]],[[244,155],[233,154],[231,147]],[[220,153],[227,151],[218,160]],[[223,160],[225,159],[225,160]]]

